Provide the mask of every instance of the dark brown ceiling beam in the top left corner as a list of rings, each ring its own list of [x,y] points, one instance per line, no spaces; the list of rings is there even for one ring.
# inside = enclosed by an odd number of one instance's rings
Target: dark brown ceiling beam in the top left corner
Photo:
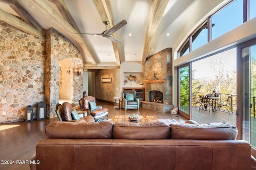
[[[28,25],[38,29],[38,31],[43,32],[41,25],[37,23],[36,20],[23,8],[22,5],[17,0],[0,0],[5,4],[8,4]]]

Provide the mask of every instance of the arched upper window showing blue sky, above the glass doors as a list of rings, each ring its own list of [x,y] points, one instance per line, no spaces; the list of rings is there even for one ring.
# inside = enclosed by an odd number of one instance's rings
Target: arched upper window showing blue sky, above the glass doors
[[[177,57],[182,57],[208,41],[241,25],[248,20],[247,18],[252,19],[254,17],[256,17],[256,0],[233,0],[228,2],[192,32],[178,50]],[[244,18],[246,19],[244,20]],[[208,25],[211,25],[211,27],[208,28]]]

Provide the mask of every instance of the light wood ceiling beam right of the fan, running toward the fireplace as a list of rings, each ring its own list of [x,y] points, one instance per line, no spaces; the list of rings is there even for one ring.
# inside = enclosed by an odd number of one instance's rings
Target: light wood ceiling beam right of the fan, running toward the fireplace
[[[142,55],[142,64],[145,64],[146,58],[148,57],[148,49],[150,46],[150,42],[156,33],[156,29],[162,19],[166,6],[169,0],[152,0],[152,4],[150,7],[150,14],[148,17],[148,27],[146,31],[144,50]]]

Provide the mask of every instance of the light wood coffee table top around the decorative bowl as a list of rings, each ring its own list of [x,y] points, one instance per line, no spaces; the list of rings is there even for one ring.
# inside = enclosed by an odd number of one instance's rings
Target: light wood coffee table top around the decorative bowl
[[[151,115],[143,115],[141,116],[142,119],[138,123],[143,123],[143,122],[156,122],[158,119],[156,116],[151,116]],[[128,115],[115,115],[112,117],[111,121],[114,123],[121,121],[121,122],[131,122],[130,119],[128,118]]]

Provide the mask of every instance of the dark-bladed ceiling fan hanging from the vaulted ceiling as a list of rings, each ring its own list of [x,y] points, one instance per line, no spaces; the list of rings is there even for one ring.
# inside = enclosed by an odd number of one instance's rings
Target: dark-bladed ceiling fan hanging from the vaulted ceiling
[[[122,28],[126,23],[127,23],[126,20],[122,20],[118,24],[116,24],[114,27],[107,30],[107,25],[109,24],[109,22],[104,21],[104,24],[106,25],[106,30],[103,31],[102,33],[76,33],[76,34],[102,35],[103,37],[106,37],[117,44],[121,44],[121,42],[115,37],[113,37],[112,34],[116,32],[118,29]]]

